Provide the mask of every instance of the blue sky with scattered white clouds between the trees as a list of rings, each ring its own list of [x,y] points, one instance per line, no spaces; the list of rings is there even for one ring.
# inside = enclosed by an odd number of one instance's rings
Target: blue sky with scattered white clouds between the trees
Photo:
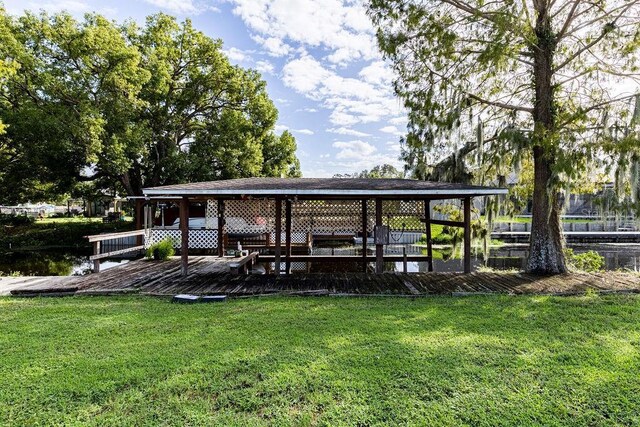
[[[0,0],[1,1],[1,0]],[[134,19],[165,12],[224,42],[232,63],[255,68],[279,110],[277,132],[298,142],[305,177],[400,166],[406,113],[378,53],[361,1],[351,0],[4,0],[25,9],[98,12]]]

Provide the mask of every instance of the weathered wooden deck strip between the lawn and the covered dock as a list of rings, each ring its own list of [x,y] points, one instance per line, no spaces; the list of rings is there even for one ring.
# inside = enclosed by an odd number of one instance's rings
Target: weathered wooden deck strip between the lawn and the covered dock
[[[522,273],[323,273],[232,275],[233,258],[191,257],[189,275],[180,275],[180,260],[133,261],[80,277],[2,277],[0,295],[467,295],[484,293],[571,295],[595,289],[639,292],[640,275],[606,272],[534,276]]]

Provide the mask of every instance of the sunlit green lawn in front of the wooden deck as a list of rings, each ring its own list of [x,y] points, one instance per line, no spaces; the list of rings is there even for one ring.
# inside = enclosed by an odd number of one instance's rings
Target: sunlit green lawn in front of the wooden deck
[[[638,425],[640,296],[0,299],[5,425]]]

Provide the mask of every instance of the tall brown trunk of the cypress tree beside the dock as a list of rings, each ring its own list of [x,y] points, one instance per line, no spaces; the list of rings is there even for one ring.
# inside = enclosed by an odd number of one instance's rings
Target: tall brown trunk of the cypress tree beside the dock
[[[555,35],[547,2],[536,2],[536,36],[534,52],[535,105],[533,111],[533,218],[529,243],[527,271],[538,274],[558,274],[567,270],[564,251],[561,205],[553,183],[555,164],[555,114],[553,100],[553,54]]]

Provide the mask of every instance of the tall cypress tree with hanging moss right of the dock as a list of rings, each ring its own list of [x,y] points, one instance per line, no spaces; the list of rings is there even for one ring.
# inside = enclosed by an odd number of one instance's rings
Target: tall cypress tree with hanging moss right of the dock
[[[527,270],[566,271],[559,192],[607,160],[603,129],[628,120],[640,2],[371,0],[369,12],[409,111],[409,166],[424,178],[453,150],[489,181],[532,159]]]

